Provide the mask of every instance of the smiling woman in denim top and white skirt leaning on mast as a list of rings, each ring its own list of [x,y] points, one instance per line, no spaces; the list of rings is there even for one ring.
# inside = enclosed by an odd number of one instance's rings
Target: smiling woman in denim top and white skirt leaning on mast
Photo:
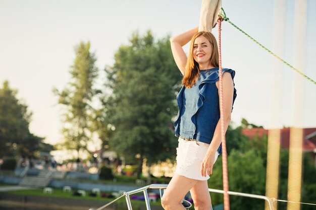
[[[187,57],[182,47],[190,40]],[[207,179],[221,154],[217,42],[212,33],[198,32],[198,28],[174,36],[170,42],[184,77],[177,96],[179,113],[175,121],[179,137],[177,168],[164,192],[162,205],[166,210],[185,209],[181,201],[190,191],[195,209],[211,209]],[[235,71],[227,68],[222,71],[226,132],[236,98]]]

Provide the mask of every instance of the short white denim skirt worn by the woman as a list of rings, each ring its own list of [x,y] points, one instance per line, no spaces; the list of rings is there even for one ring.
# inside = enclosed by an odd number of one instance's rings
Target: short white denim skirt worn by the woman
[[[190,179],[207,180],[206,177],[201,175],[201,164],[204,159],[208,145],[200,144],[196,141],[185,141],[183,138],[178,139],[179,146],[177,148],[177,167],[175,173],[181,176],[185,176]],[[215,161],[219,156],[216,151]]]

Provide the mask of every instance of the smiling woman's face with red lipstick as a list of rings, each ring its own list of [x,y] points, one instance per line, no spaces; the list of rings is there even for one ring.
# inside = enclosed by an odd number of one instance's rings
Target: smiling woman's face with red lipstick
[[[212,55],[212,46],[208,39],[204,36],[199,36],[194,40],[193,58],[199,64],[209,62]]]

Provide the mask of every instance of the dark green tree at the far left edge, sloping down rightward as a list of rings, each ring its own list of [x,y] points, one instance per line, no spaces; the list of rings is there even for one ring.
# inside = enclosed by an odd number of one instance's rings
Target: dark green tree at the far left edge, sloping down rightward
[[[30,133],[31,116],[27,105],[17,98],[17,90],[11,89],[9,82],[5,81],[0,89],[0,158],[27,156],[41,150],[43,145],[49,151],[53,149],[43,143],[43,137]]]

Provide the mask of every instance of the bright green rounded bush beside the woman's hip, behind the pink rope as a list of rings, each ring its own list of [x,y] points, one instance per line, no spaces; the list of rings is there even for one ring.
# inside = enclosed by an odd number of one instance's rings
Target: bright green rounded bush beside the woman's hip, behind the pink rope
[[[251,163],[251,164],[249,164]],[[266,169],[263,160],[257,155],[255,149],[250,149],[245,153],[232,150],[228,156],[229,190],[250,194],[265,194]],[[208,180],[208,186],[215,189],[223,189],[223,169],[222,157],[214,165],[213,174]],[[230,196],[232,209],[262,209],[264,201]],[[223,203],[223,194],[212,194],[213,205]]]

